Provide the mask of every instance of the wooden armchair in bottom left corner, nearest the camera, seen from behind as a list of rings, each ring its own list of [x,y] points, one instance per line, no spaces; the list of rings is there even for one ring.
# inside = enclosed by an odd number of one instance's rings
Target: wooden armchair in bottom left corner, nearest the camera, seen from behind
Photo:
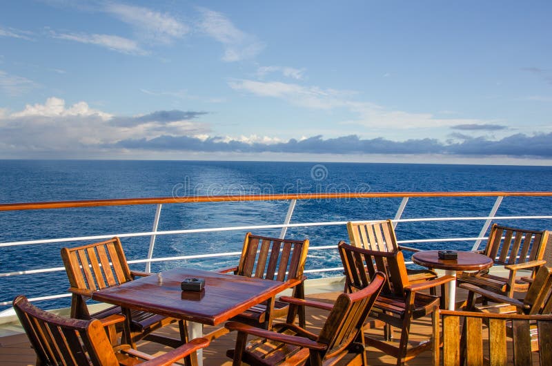
[[[135,365],[139,358],[146,360],[141,363],[145,366],[172,365],[182,358],[191,362],[197,349],[209,345],[208,340],[195,338],[152,358],[128,345],[112,347],[103,327],[123,321],[123,316],[113,315],[103,320],[63,318],[35,307],[25,296],[15,298],[13,307],[37,354],[37,365]]]

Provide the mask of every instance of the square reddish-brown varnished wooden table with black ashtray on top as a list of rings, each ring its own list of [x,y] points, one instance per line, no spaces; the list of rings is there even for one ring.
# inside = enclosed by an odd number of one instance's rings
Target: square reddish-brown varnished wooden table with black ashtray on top
[[[185,278],[204,278],[201,292],[181,291]],[[203,335],[203,325],[219,325],[243,311],[270,300],[288,282],[233,276],[199,269],[176,268],[92,293],[92,299],[172,318],[188,320],[190,339]],[[128,314],[130,312],[127,311]],[[127,319],[127,329],[130,320]],[[201,352],[198,351],[201,365]]]

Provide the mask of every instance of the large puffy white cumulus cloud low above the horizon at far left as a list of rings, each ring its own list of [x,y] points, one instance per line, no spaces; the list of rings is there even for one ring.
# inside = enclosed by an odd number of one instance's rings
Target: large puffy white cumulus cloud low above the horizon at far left
[[[99,149],[123,139],[152,139],[159,136],[205,134],[210,128],[191,121],[187,115],[166,121],[172,112],[127,117],[134,124],[117,124],[117,117],[90,108],[86,102],[66,106],[63,99],[50,97],[44,104],[28,104],[14,113],[0,109],[0,146],[13,146],[19,151],[75,151]],[[176,114],[178,114],[176,113]]]

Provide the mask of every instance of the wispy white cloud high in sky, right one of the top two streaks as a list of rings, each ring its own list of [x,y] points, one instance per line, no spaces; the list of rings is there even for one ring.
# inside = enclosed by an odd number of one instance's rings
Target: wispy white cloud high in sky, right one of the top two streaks
[[[198,10],[201,13],[199,30],[224,45],[224,56],[222,57],[224,61],[250,59],[263,50],[262,42],[237,29],[230,19],[221,13],[206,8],[198,8]]]

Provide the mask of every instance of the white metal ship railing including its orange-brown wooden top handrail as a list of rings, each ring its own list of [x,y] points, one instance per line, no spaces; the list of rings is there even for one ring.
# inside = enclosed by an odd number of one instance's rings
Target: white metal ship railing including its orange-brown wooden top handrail
[[[488,215],[474,216],[474,217],[440,217],[440,218],[402,218],[406,204],[409,198],[462,198],[462,197],[495,197],[495,203],[493,204]],[[241,252],[222,252],[222,253],[208,253],[197,254],[188,256],[172,256],[172,257],[159,257],[154,258],[155,239],[157,235],[186,235],[192,233],[213,233],[220,231],[250,231],[257,229],[281,229],[280,238],[284,238],[288,228],[293,227],[328,227],[333,225],[345,225],[346,221],[335,222],[301,222],[291,223],[291,218],[295,210],[295,206],[298,200],[340,200],[340,199],[369,199],[369,198],[402,198],[399,208],[395,213],[395,218],[392,220],[393,224],[399,222],[436,222],[436,221],[482,221],[482,229],[480,235],[477,237],[462,237],[462,238],[420,238],[415,240],[399,240],[399,244],[422,244],[422,243],[439,243],[439,242],[471,242],[473,241],[472,250],[477,250],[482,240],[486,237],[484,234],[489,229],[489,226],[493,220],[550,220],[552,215],[517,215],[517,216],[496,216],[496,213],[502,203],[504,197],[552,197],[552,192],[390,192],[390,193],[303,193],[303,194],[282,194],[282,195],[220,195],[220,196],[195,196],[195,197],[179,197],[179,198],[128,198],[118,200],[83,200],[83,201],[60,201],[60,202],[30,202],[30,203],[13,203],[13,204],[0,204],[0,211],[23,211],[23,210],[44,210],[44,209],[67,209],[76,207],[97,207],[97,206],[126,206],[126,205],[143,205],[143,204],[157,204],[155,211],[155,218],[153,220],[152,231],[139,232],[139,233],[110,233],[106,235],[89,235],[70,238],[53,238],[42,240],[21,240],[16,242],[1,242],[2,247],[16,247],[21,245],[37,245],[37,244],[50,244],[60,242],[79,242],[79,241],[92,241],[92,240],[105,240],[114,236],[119,238],[132,238],[148,236],[150,237],[150,244],[148,247],[148,256],[144,259],[129,260],[129,264],[145,264],[145,271],[150,271],[152,262],[169,262],[175,260],[191,260],[201,258],[221,258],[229,256],[239,256]],[[268,200],[289,200],[288,211],[286,218],[282,224],[265,224],[265,225],[251,225],[251,226],[239,226],[239,227],[218,227],[218,228],[201,228],[201,229],[181,229],[181,230],[169,230],[158,231],[159,221],[161,218],[161,209],[164,204],[190,204],[197,202],[236,202],[236,201],[268,201]],[[385,218],[382,218],[382,220]],[[376,220],[371,220],[376,221]],[[311,251],[321,251],[335,249],[335,245],[326,246],[311,246]],[[319,269],[306,269],[305,273],[320,273],[320,272],[335,272],[342,271],[342,267],[333,268],[319,268]],[[23,276],[29,274],[48,273],[55,271],[65,271],[63,267],[51,267],[41,269],[27,269],[23,271],[11,271],[0,273],[0,281],[2,278],[8,278],[13,276]],[[53,300],[57,298],[69,297],[69,293],[59,293],[47,296],[37,296],[30,298],[31,301],[41,300]],[[0,301],[0,306],[10,305],[11,300]],[[0,316],[2,313],[0,312]]]

